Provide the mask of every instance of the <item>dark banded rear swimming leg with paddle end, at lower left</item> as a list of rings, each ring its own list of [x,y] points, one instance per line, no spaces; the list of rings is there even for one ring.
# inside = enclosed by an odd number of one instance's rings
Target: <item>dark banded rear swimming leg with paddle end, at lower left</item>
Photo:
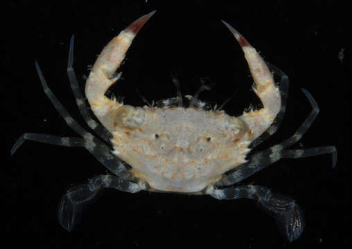
[[[58,219],[62,228],[71,230],[82,219],[82,210],[96,199],[100,190],[113,188],[123,192],[136,193],[141,191],[137,183],[124,181],[111,175],[96,176],[89,183],[71,188],[62,196],[58,206]]]

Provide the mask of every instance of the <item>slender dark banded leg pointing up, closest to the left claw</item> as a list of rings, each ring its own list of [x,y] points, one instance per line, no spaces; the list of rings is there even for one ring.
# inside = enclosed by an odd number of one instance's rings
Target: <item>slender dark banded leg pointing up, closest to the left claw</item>
[[[78,80],[76,77],[76,73],[73,69],[73,43],[74,43],[74,35],[72,35],[70,40],[70,48],[69,48],[69,62],[67,63],[67,76],[69,77],[69,82],[71,84],[71,89],[73,91],[73,95],[76,98],[77,107],[80,110],[80,114],[84,118],[85,122],[87,122],[88,126],[95,131],[100,138],[105,140],[105,142],[110,143],[110,139],[112,138],[111,134],[103,125],[96,122],[93,118],[91,118],[91,114],[89,113],[89,109],[87,104],[85,104],[85,98],[80,91],[80,86],[78,86]]]

